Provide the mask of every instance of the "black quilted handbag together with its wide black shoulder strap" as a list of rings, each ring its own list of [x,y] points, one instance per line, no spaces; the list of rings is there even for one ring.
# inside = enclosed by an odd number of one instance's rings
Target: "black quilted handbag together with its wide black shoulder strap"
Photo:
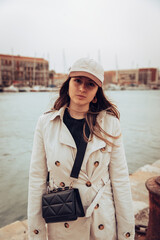
[[[89,128],[86,128],[89,137]],[[82,139],[77,150],[76,159],[71,171],[72,178],[78,178],[87,143]],[[49,173],[47,177],[49,183]],[[79,190],[72,187],[55,188],[42,196],[42,216],[46,223],[73,221],[84,217],[84,209]]]

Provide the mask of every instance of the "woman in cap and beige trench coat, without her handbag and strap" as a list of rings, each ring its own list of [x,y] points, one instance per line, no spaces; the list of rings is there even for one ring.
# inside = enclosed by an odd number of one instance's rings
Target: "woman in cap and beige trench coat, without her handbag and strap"
[[[134,214],[119,112],[102,90],[103,68],[92,59],[76,61],[60,89],[52,111],[35,130],[29,176],[29,239],[134,239]],[[89,138],[85,127],[90,130]],[[69,186],[80,141],[87,147],[78,180],[85,217],[45,224],[42,194],[50,185]]]

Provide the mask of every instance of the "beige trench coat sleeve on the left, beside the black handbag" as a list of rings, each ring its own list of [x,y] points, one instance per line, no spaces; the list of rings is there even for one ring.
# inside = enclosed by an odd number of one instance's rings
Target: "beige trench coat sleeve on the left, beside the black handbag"
[[[33,141],[29,171],[28,236],[29,240],[46,240],[45,221],[42,218],[42,194],[46,191],[47,164],[42,137],[42,117],[39,118]]]

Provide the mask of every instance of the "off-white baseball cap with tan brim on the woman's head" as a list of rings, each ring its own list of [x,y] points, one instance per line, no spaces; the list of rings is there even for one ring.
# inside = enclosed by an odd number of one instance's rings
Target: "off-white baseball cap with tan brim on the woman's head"
[[[102,87],[104,81],[103,67],[93,59],[81,58],[71,67],[69,77],[82,76],[92,79],[99,87]]]

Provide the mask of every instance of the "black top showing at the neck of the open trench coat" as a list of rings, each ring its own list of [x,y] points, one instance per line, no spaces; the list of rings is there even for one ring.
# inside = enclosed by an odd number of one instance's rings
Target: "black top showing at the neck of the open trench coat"
[[[85,118],[83,119],[72,118],[68,112],[68,109],[66,108],[63,116],[63,122],[69,129],[78,149],[81,138],[83,138],[83,125],[85,122]]]

